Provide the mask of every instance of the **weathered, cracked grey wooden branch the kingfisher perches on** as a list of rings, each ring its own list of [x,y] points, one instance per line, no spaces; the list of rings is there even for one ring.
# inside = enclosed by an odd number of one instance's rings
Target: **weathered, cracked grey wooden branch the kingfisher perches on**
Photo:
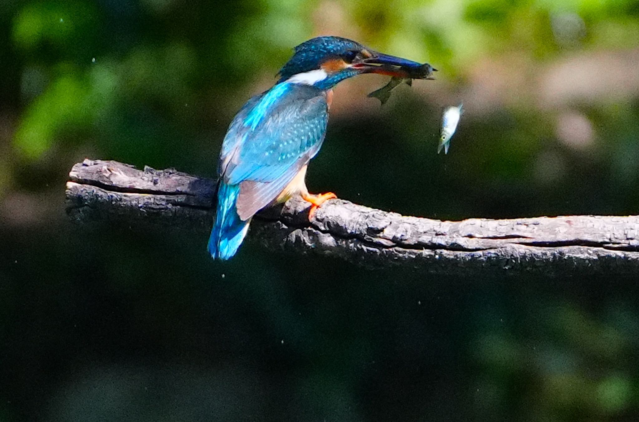
[[[214,180],[116,161],[75,164],[66,185],[67,212],[75,221],[164,224],[201,233],[203,244],[214,197]],[[309,222],[307,207],[294,198],[261,212],[249,239],[371,267],[408,265],[436,274],[639,274],[639,216],[439,221],[332,199]]]

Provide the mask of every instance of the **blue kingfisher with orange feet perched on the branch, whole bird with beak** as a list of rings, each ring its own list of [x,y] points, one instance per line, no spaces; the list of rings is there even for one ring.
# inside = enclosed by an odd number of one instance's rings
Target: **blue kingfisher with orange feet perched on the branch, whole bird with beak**
[[[250,98],[229,125],[218,161],[217,211],[208,240],[213,258],[235,255],[259,210],[301,195],[309,220],[334,193],[310,194],[309,161],[324,141],[333,87],[355,75],[406,75],[420,63],[367,49],[338,36],[319,36],[297,47],[279,80]]]

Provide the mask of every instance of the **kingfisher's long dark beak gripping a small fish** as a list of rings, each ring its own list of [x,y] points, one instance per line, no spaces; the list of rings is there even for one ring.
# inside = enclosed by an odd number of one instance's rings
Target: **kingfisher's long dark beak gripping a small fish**
[[[362,59],[354,65],[362,73],[389,75],[412,79],[435,79],[433,72],[437,69],[428,63],[417,63],[401,57],[390,56],[379,52],[371,52],[371,57]]]

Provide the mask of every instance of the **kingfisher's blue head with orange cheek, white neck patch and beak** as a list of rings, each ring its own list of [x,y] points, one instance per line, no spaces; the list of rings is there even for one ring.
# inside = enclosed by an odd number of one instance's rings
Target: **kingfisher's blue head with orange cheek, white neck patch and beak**
[[[410,77],[411,71],[421,66],[415,61],[367,49],[346,38],[318,36],[295,47],[295,54],[279,72],[279,82],[304,83],[327,90],[358,74]]]

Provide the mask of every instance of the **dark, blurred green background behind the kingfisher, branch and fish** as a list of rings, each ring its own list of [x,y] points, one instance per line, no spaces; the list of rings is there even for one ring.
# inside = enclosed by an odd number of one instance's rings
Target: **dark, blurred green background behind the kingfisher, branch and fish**
[[[639,210],[639,1],[0,2],[0,422],[636,421],[637,277],[427,276],[66,220],[84,157],[213,176],[291,48],[335,90],[311,191],[437,219]],[[463,100],[449,155],[440,113]]]

